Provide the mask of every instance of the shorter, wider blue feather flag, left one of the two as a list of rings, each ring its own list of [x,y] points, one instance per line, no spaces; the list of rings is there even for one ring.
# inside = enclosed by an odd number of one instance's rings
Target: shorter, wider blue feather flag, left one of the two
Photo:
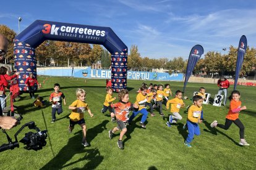
[[[184,87],[183,87],[184,92],[187,86],[187,81],[189,81],[189,78],[192,75],[192,71],[194,70],[196,63],[200,59],[202,54],[203,54],[203,47],[201,45],[195,45],[194,47],[192,47],[189,54],[189,60],[187,61],[187,71],[186,71],[186,77],[184,80]]]

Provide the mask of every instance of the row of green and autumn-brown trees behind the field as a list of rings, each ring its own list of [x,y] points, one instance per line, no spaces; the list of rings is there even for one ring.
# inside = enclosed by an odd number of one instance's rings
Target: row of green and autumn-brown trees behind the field
[[[0,33],[6,36],[9,41],[8,52],[6,54],[6,62],[13,63],[13,40],[16,36],[14,30],[6,25],[0,25]],[[111,54],[98,44],[85,44],[79,42],[64,41],[45,41],[36,48],[36,59],[39,65],[49,65],[54,60],[56,66],[85,66],[101,63],[101,67],[109,68],[111,65]],[[188,54],[189,55],[189,54]],[[200,59],[195,66],[195,74],[234,75],[236,70],[237,48],[230,46],[228,54],[220,52],[208,51],[203,59]],[[163,68],[164,70],[179,71],[186,73],[187,60],[182,57],[168,59],[161,57],[160,59],[150,59],[142,57],[136,45],[130,47],[127,58],[127,67],[131,70],[151,71],[152,68]],[[252,68],[256,65],[256,49],[247,46],[244,56],[244,63],[241,69],[241,75],[249,75]],[[254,70],[255,71],[255,70]]]

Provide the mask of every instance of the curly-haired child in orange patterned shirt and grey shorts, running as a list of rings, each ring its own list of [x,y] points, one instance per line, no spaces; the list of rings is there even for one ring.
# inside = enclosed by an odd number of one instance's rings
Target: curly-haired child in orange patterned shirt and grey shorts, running
[[[129,92],[126,89],[121,89],[121,91],[119,91],[118,98],[120,102],[113,104],[117,126],[112,130],[109,130],[108,134],[109,138],[113,139],[114,132],[121,130],[119,139],[117,140],[117,147],[124,149],[124,145],[122,145],[122,137],[127,132],[126,124],[129,120],[129,112],[130,110],[134,110],[134,108],[139,108],[139,106],[129,102]]]

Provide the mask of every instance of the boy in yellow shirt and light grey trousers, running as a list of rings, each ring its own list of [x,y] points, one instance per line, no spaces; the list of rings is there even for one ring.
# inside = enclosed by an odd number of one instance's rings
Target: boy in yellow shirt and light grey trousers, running
[[[175,92],[175,98],[168,100],[168,102],[166,103],[167,109],[169,109],[169,103],[171,103],[171,113],[173,113],[173,116],[169,116],[169,121],[167,121],[166,125],[168,127],[171,127],[171,123],[176,123],[178,119],[182,119],[182,116],[179,114],[179,109],[185,106],[185,103],[182,100],[182,92]]]

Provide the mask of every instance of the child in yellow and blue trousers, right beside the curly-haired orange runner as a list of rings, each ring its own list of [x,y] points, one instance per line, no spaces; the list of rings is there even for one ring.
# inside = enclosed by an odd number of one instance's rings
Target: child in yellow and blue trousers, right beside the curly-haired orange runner
[[[132,119],[134,119],[135,116],[137,116],[139,113],[142,113],[142,119],[140,120],[140,126],[142,126],[143,128],[146,128],[146,125],[144,123],[147,120],[147,116],[148,116],[148,111],[145,107],[145,103],[148,100],[147,86],[140,87],[140,91],[141,92],[139,94],[137,94],[136,102],[135,102],[136,105],[139,105],[139,110],[138,111],[134,110],[132,112],[132,116],[130,116],[129,123],[132,122]]]

